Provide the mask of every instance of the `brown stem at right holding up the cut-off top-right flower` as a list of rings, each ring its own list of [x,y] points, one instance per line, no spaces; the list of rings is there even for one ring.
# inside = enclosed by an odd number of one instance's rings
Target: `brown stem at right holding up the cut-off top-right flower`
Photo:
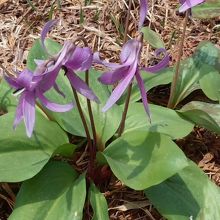
[[[173,98],[176,92],[176,87],[177,87],[177,82],[179,80],[180,77],[180,61],[183,55],[183,47],[184,47],[184,41],[185,41],[185,36],[186,36],[186,26],[187,26],[187,22],[188,22],[188,17],[189,17],[189,10],[186,11],[185,14],[185,18],[184,18],[184,23],[183,23],[183,33],[180,39],[180,45],[179,45],[179,53],[178,53],[178,57],[177,57],[177,64],[176,64],[176,69],[175,69],[175,73],[173,75],[173,81],[171,84],[171,91],[170,91],[170,97],[169,97],[169,101],[168,101],[168,108],[175,108],[175,103],[173,103]]]

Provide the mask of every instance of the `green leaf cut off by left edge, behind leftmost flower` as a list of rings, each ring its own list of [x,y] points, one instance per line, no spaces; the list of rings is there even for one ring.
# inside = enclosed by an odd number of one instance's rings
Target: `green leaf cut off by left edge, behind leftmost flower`
[[[9,87],[4,79],[2,79],[0,82],[0,110],[6,112],[16,108],[17,100],[12,93],[13,89]]]

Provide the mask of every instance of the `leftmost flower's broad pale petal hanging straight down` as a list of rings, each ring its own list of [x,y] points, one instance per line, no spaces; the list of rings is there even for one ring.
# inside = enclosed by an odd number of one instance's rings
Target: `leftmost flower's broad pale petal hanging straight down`
[[[24,93],[23,115],[28,137],[31,137],[35,124],[35,95],[32,92]]]

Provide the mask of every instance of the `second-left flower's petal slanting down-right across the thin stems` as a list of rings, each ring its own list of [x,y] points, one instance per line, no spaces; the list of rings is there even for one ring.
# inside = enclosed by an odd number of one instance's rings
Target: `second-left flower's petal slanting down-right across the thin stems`
[[[66,74],[72,87],[79,92],[81,95],[85,96],[87,99],[99,103],[98,97],[94,92],[88,87],[88,85],[80,79],[72,70],[68,70]]]

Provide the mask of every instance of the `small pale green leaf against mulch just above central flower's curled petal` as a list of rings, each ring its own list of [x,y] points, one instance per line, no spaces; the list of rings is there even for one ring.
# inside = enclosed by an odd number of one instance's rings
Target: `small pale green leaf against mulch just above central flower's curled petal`
[[[144,34],[144,40],[147,41],[154,48],[165,48],[164,42],[161,40],[160,35],[149,27],[141,28]]]

